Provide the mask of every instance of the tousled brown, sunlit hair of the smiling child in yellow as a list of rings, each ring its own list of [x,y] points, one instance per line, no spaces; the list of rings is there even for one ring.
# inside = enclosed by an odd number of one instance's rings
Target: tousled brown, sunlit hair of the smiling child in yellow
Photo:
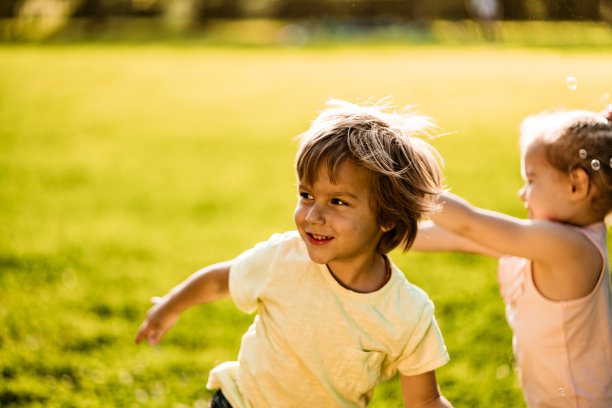
[[[427,134],[431,119],[415,113],[386,113],[389,106],[381,102],[358,106],[332,99],[327,105],[310,129],[298,136],[298,178],[313,183],[323,162],[331,182],[346,161],[367,169],[370,207],[385,231],[377,250],[387,253],[403,242],[407,251],[418,221],[437,209],[434,198],[442,191],[440,155],[414,137]]]

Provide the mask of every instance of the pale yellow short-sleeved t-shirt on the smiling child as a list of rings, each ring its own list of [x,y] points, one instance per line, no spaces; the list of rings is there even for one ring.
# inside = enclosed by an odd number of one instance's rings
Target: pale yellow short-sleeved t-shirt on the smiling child
[[[240,310],[257,309],[238,361],[208,380],[234,408],[365,407],[398,370],[422,374],[449,359],[433,303],[399,269],[381,289],[353,292],[310,260],[296,231],[238,256],[229,287]]]

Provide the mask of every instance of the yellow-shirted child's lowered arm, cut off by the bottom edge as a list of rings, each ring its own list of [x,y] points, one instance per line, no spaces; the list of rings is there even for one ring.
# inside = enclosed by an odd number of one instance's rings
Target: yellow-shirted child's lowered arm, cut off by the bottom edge
[[[440,394],[436,372],[419,375],[400,374],[402,397],[406,408],[452,408],[450,402]]]

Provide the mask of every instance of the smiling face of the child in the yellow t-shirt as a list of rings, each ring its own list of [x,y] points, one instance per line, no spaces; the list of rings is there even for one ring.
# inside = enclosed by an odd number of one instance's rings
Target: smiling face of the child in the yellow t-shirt
[[[295,225],[313,262],[334,269],[359,268],[371,262],[383,234],[370,206],[369,174],[346,161],[329,180],[322,163],[312,185],[298,181]]]

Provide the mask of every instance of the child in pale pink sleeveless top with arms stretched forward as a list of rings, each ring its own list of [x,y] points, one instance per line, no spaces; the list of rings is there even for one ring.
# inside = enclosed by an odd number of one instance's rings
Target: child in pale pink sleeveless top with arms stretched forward
[[[529,219],[450,194],[415,249],[503,255],[498,280],[529,407],[612,406],[612,300],[604,218],[612,209],[612,105],[521,125]]]

